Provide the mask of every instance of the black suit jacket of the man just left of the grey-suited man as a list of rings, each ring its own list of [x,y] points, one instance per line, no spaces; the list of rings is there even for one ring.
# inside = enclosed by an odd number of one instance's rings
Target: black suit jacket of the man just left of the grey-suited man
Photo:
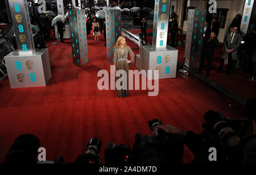
[[[210,38],[206,38],[204,40],[203,49],[202,49],[202,56],[205,59],[213,59],[214,50],[218,46],[218,39],[214,38],[210,40]]]

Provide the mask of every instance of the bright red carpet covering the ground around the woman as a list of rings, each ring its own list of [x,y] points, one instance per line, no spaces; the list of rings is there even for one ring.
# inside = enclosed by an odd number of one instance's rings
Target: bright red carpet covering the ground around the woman
[[[115,90],[97,89],[98,70],[110,69],[103,35],[100,42],[89,36],[89,64],[76,66],[71,44],[48,42],[52,77],[47,87],[10,89],[8,77],[0,81],[0,162],[14,139],[24,133],[38,136],[46,148],[47,160],[63,156],[75,161],[85,152],[90,138],[102,139],[101,155],[109,141],[133,145],[134,135],[151,134],[148,120],[159,118],[182,130],[203,131],[203,115],[209,109],[229,118],[242,114],[242,107],[193,77],[177,73],[176,79],[160,80],[159,95],[131,90],[118,98]],[[137,45],[127,41],[135,53]],[[135,65],[131,69],[136,69]],[[185,148],[184,162],[192,153]]]

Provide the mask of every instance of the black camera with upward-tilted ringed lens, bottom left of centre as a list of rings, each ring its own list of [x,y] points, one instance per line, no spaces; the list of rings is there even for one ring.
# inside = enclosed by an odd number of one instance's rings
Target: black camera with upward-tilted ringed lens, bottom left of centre
[[[77,157],[76,164],[98,164],[100,163],[98,152],[100,152],[102,145],[101,139],[92,138],[86,145],[86,152]]]

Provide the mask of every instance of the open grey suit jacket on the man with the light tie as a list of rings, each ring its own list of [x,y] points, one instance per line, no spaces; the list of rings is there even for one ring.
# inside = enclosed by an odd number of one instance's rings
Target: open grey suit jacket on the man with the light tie
[[[228,59],[229,58],[229,53],[226,52],[226,49],[233,49],[232,53],[232,59],[233,60],[237,60],[238,59],[238,48],[241,45],[241,35],[238,34],[238,32],[236,32],[236,35],[234,36],[231,48],[230,48],[230,43],[231,43],[231,32],[228,32],[228,34],[226,34],[223,45],[224,45],[224,51],[222,53],[221,58],[222,59]]]

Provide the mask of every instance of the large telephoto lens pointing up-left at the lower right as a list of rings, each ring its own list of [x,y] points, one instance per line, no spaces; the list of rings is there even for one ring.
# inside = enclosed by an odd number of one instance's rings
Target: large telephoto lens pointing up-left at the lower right
[[[217,136],[224,144],[236,147],[240,143],[240,137],[220,113],[210,110],[204,115],[204,120],[210,131],[213,131],[214,136]]]

